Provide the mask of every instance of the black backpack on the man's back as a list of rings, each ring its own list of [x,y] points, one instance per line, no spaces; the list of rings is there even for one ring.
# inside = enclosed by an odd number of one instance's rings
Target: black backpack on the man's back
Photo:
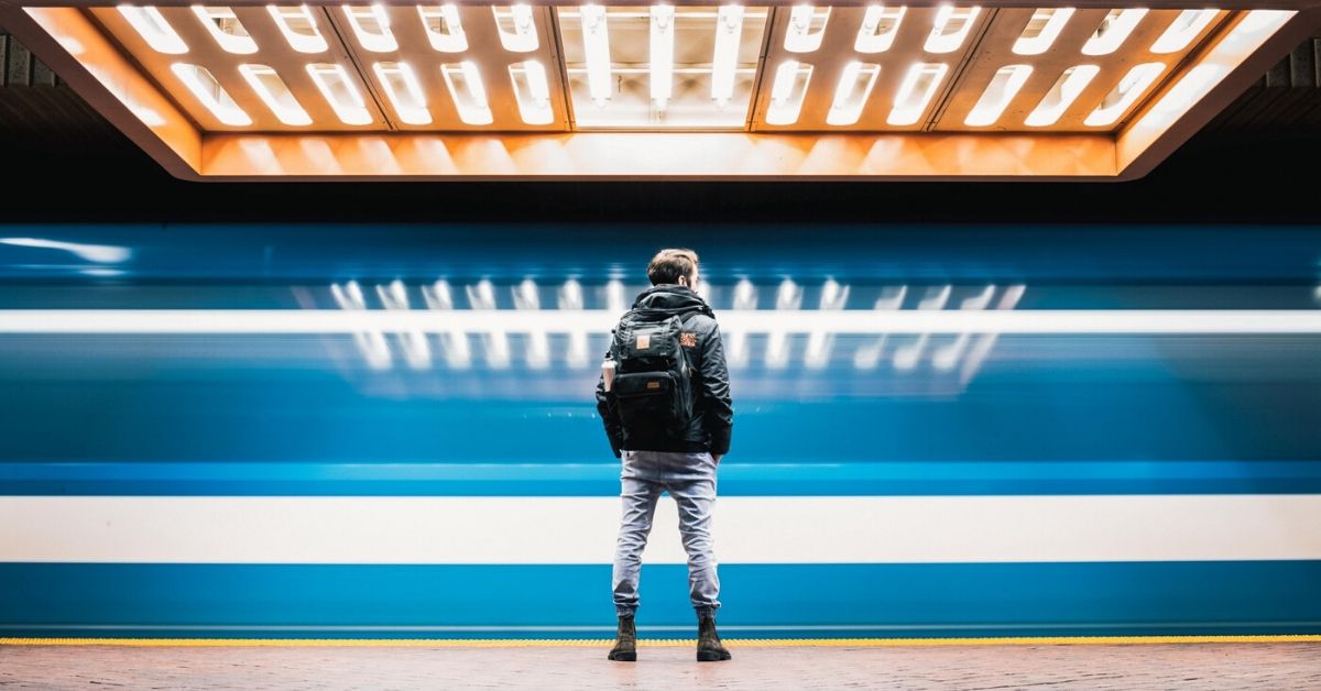
[[[679,341],[697,310],[630,309],[614,329],[612,392],[629,435],[683,439],[692,420],[692,362]]]

